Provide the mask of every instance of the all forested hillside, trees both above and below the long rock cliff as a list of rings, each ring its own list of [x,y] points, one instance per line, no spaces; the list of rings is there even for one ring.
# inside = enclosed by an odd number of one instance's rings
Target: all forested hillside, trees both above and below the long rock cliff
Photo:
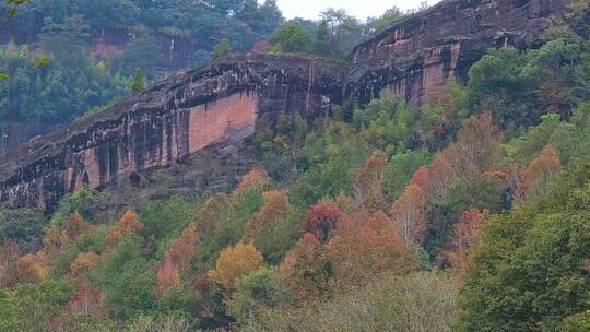
[[[402,15],[363,25],[342,12],[284,22],[274,1],[54,2],[19,8],[7,26],[34,46],[2,46],[0,70],[9,92],[56,94],[31,108],[13,104],[26,93],[5,97],[2,119],[73,120],[141,91],[181,67],[138,57],[163,36],[204,43],[206,58],[257,39],[257,51],[342,58]],[[259,119],[256,165],[231,190],[192,186],[174,165],[142,175],[140,191],[82,188],[50,215],[1,209],[0,331],[590,331],[589,17],[590,1],[573,1],[539,48],[489,49],[421,108],[386,91],[314,121]],[[137,36],[96,44],[114,29]],[[54,91],[67,68],[108,88]]]

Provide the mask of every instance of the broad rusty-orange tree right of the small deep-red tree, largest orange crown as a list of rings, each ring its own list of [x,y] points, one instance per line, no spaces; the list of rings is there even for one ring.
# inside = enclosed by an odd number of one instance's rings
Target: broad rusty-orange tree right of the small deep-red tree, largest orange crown
[[[344,285],[358,284],[384,272],[406,273],[415,258],[382,211],[361,211],[346,217],[328,245],[335,275]]]

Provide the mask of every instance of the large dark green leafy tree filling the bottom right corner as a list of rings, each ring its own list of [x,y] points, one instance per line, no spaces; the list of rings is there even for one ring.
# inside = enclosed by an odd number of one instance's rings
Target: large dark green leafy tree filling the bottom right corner
[[[461,331],[558,331],[590,309],[589,185],[590,161],[579,161],[540,202],[488,223],[462,290]]]

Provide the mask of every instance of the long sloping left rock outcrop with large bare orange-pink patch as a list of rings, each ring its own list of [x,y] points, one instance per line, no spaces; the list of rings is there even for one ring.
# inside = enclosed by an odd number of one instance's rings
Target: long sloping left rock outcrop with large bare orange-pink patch
[[[239,142],[258,118],[306,118],[342,104],[340,64],[241,55],[180,74],[104,114],[0,155],[0,201],[51,206],[80,186],[99,188],[210,145]]]

